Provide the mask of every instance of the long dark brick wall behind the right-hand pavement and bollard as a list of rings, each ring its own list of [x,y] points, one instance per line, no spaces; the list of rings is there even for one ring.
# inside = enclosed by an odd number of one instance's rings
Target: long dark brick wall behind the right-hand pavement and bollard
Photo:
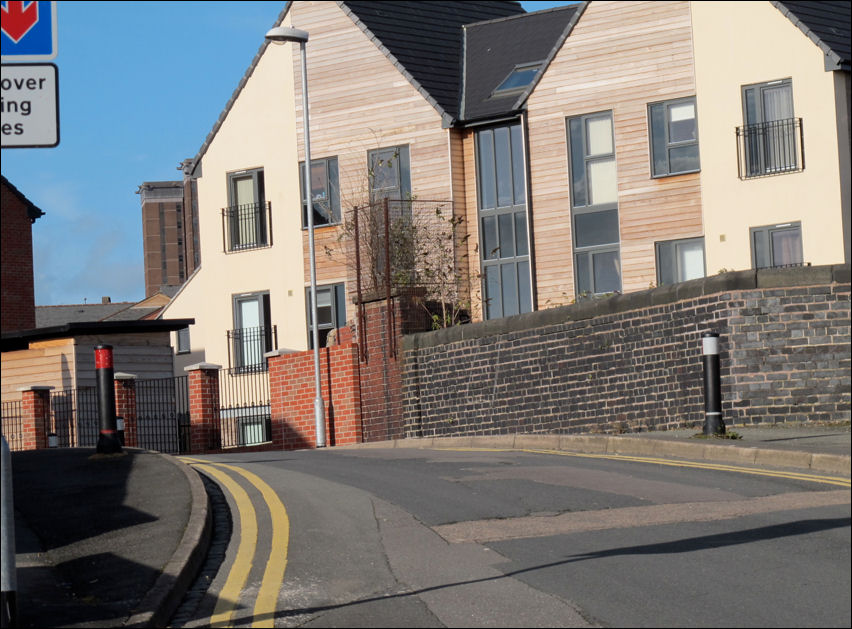
[[[403,344],[406,436],[703,424],[701,335],[721,335],[728,424],[849,421],[849,266],[727,273]]]

